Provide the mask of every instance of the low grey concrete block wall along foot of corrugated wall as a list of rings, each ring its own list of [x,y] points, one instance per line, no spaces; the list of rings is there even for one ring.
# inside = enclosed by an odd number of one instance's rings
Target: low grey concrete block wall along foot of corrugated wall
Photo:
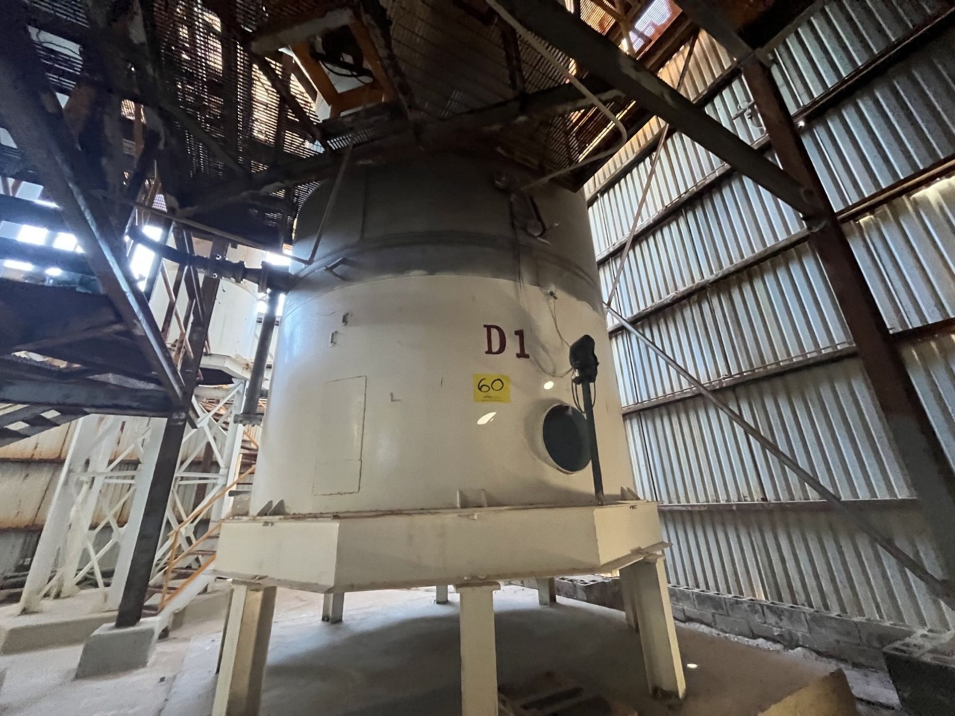
[[[557,580],[562,597],[623,609],[617,578],[575,577]],[[775,601],[732,597],[686,587],[670,587],[676,621],[693,621],[747,639],[766,639],[787,648],[804,647],[822,656],[885,670],[882,649],[910,637],[904,624],[820,612]]]

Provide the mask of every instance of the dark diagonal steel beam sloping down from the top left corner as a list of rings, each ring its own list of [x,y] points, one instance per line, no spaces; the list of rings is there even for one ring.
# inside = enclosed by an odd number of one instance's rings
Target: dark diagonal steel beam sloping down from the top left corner
[[[37,167],[44,187],[60,206],[90,267],[129,326],[150,367],[174,405],[183,405],[182,379],[145,296],[138,289],[109,212],[88,196],[84,160],[70,135],[59,102],[43,74],[19,3],[0,23],[0,96],[17,147]]]

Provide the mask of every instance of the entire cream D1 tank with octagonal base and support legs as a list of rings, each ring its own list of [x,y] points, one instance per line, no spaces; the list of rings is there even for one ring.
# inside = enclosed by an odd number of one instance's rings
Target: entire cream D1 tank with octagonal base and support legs
[[[303,205],[251,516],[223,523],[215,569],[235,579],[214,713],[261,685],[275,587],[347,592],[435,585],[460,604],[461,712],[498,713],[492,594],[621,570],[647,684],[686,690],[666,542],[631,488],[584,200],[499,161],[357,166]],[[569,347],[601,361],[595,496]],[[235,629],[235,633],[230,630]],[[255,647],[242,646],[255,644]],[[256,665],[258,664],[258,665]],[[237,676],[238,675],[238,676]],[[240,684],[239,682],[243,683]]]

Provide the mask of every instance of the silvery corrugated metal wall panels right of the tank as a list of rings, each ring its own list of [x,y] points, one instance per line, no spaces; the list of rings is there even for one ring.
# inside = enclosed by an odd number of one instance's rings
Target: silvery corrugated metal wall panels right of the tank
[[[896,59],[942,0],[831,0],[775,47],[774,74],[955,459],[955,178],[854,207],[955,157],[955,30]],[[682,53],[661,73],[675,84]],[[888,63],[851,95],[847,77]],[[714,84],[715,83],[715,84]],[[714,88],[710,91],[707,88]],[[706,35],[683,88],[738,136],[765,144],[732,62]],[[586,187],[608,290],[646,183],[659,124]],[[772,157],[772,154],[770,155]],[[804,226],[789,207],[676,134],[665,143],[616,307],[905,549],[940,571],[881,412]],[[952,171],[955,171],[953,166]],[[780,250],[775,251],[774,247]],[[753,260],[756,252],[772,255]],[[718,272],[732,276],[709,285]],[[699,290],[696,290],[697,286]],[[675,300],[680,291],[690,293]],[[938,326],[942,322],[941,326]],[[939,628],[955,613],[829,512],[627,333],[614,332],[639,492],[659,500],[673,583]]]

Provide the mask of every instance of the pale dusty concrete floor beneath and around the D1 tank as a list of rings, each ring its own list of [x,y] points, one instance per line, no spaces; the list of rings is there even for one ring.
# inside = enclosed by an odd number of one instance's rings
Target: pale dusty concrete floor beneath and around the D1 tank
[[[573,677],[633,705],[640,716],[758,713],[838,665],[679,627],[690,697],[648,700],[638,637],[623,614],[505,587],[495,596],[501,684],[543,671]],[[457,603],[434,590],[349,595],[345,621],[320,621],[321,596],[280,590],[263,697],[264,716],[439,716],[459,712]],[[0,657],[0,713],[11,716],[208,716],[221,622],[184,627],[153,662],[117,677],[74,681],[78,646]],[[880,684],[884,681],[872,676]],[[854,688],[859,674],[850,675]],[[871,684],[870,684],[871,685]],[[859,691],[857,690],[857,694]]]

